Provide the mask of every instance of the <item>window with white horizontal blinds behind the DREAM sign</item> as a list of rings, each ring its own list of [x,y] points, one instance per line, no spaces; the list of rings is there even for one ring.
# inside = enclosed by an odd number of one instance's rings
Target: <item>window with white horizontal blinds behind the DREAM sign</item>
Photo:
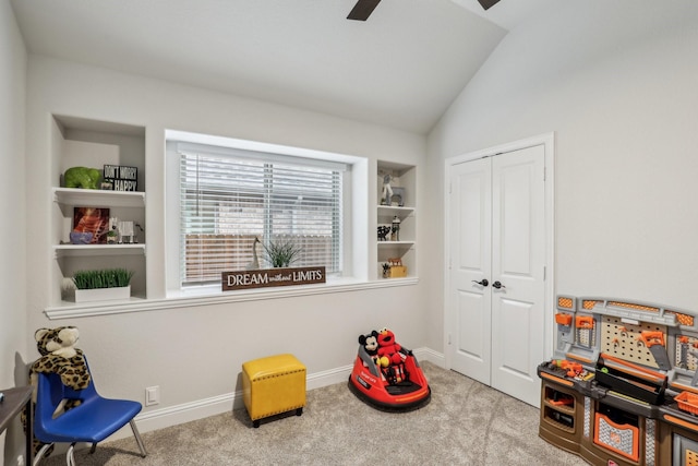
[[[341,164],[189,143],[178,154],[182,286],[270,267],[272,242],[300,250],[290,266],[341,272]]]

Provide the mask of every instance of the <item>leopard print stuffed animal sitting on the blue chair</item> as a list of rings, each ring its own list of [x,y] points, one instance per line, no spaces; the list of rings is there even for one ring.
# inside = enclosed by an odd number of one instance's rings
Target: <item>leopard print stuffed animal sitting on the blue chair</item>
[[[60,326],[57,328],[39,328],[34,334],[36,348],[41,357],[34,361],[29,368],[29,383],[34,386],[32,402],[36,404],[36,387],[38,384],[38,373],[57,373],[60,375],[63,385],[75,391],[83,390],[89,385],[89,371],[82,349],[75,348],[80,337],[80,332],[74,326]],[[79,399],[62,399],[53,417],[58,417],[68,409],[80,405]],[[26,429],[26,417],[22,414],[22,423]],[[38,453],[43,443],[34,439],[34,454]],[[53,449],[46,452],[48,456]]]

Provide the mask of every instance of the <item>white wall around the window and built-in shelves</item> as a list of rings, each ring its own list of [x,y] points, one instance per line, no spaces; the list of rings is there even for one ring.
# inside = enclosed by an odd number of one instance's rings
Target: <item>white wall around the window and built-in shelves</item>
[[[172,261],[161,240],[166,129],[420,166],[425,157],[423,135],[36,56],[29,58],[27,96],[27,163],[34,177],[26,190],[27,223],[38,231],[27,259],[35,279],[50,279],[50,241],[43,228],[55,184],[51,113],[146,128],[147,286],[154,297],[165,296],[163,264]],[[358,335],[376,327],[392,327],[406,346],[423,346],[424,296],[416,285],[48,321],[43,313],[48,290],[37,287],[28,296],[28,328],[76,325],[98,390],[142,401],[146,386],[159,385],[161,403],[153,408],[163,413],[233,393],[241,363],[269,354],[293,353],[312,375],[351,365]],[[27,345],[36,357],[33,342]]]

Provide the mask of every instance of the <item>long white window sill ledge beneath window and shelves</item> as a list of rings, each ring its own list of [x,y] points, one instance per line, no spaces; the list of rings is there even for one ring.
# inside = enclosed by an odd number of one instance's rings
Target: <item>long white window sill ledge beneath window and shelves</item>
[[[230,302],[257,301],[266,299],[293,298],[298,296],[327,295],[364,289],[410,286],[419,283],[418,277],[386,278],[373,282],[338,279],[321,285],[282,286],[277,288],[257,288],[244,291],[221,291],[217,287],[202,288],[197,291],[183,291],[165,299],[132,299],[128,302],[99,302],[50,307],[45,309],[49,320],[86,318],[95,315],[124,314],[131,312],[157,311],[163,309],[191,308],[197,306],[222,304]]]

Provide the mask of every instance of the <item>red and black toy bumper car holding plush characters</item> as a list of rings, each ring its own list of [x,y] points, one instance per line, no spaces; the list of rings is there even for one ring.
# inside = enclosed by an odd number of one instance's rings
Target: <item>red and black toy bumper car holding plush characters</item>
[[[373,331],[368,337],[375,339],[380,335],[383,334]],[[397,358],[382,360],[377,351],[372,351],[372,340],[366,343],[366,336],[360,336],[359,343],[349,375],[349,389],[359,399],[384,410],[410,410],[429,403],[432,391],[412,351],[396,345],[401,362],[395,363]]]

